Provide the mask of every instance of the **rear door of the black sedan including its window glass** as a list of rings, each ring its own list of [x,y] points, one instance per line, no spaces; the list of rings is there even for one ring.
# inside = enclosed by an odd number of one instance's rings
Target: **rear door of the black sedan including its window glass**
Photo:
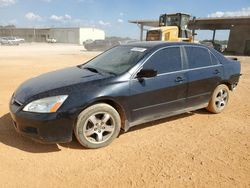
[[[206,105],[221,82],[223,65],[205,47],[185,46],[188,77],[187,107]]]

